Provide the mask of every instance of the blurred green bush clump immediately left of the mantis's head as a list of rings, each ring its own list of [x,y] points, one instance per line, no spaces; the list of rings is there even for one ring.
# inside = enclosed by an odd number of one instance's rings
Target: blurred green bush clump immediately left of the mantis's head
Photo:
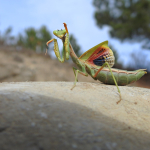
[[[40,51],[45,51],[46,42],[52,38],[46,26],[42,26],[39,30],[28,28],[25,30],[25,35],[18,35],[17,44],[26,48]]]

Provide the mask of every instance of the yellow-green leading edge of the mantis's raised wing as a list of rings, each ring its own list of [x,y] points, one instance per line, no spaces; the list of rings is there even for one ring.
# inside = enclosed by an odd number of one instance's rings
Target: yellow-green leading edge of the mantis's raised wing
[[[83,53],[79,59],[81,60],[87,60],[92,54],[95,53],[95,51],[97,51],[100,47],[106,47],[106,48],[109,48],[108,47],[108,41],[104,41],[94,47],[92,47],[91,49],[89,49],[88,51],[86,51],[85,53]]]

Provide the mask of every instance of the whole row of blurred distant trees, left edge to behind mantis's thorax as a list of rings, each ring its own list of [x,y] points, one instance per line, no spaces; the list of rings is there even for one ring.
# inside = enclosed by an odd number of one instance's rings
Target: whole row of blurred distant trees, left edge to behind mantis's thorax
[[[46,42],[52,39],[51,33],[46,26],[42,26],[38,30],[33,27],[24,30],[24,33],[19,33],[17,37],[11,35],[12,27],[8,27],[3,35],[0,35],[0,44],[4,45],[19,45],[21,47],[29,48],[31,50],[43,51],[46,50]],[[77,56],[80,56],[80,46],[77,44],[75,37],[70,34],[70,43]]]

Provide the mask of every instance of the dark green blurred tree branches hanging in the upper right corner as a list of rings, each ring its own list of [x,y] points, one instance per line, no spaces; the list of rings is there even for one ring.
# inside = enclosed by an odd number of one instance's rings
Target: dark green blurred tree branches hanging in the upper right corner
[[[110,35],[119,40],[144,41],[150,49],[149,0],[94,0],[95,19],[99,27],[109,25]]]

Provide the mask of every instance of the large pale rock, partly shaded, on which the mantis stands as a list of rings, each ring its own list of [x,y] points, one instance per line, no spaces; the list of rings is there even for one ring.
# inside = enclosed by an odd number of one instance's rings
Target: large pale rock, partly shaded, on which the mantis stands
[[[0,84],[0,150],[149,150],[150,89]]]

